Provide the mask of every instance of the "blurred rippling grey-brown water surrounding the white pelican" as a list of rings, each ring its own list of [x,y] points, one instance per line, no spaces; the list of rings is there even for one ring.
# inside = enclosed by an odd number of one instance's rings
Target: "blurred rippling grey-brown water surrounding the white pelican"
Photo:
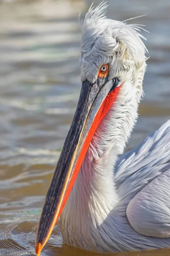
[[[34,254],[37,221],[81,88],[77,16],[91,3],[0,1],[0,255]],[[128,23],[150,32],[142,32],[150,58],[129,150],[170,118],[170,1],[108,4],[115,20],[147,14]],[[86,254],[62,245],[57,223],[42,255]]]

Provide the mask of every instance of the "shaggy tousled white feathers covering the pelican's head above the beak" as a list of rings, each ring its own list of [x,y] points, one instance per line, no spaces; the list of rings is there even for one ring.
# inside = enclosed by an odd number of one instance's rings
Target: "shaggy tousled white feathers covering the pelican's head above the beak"
[[[143,29],[138,24],[127,25],[124,22],[108,19],[108,5],[102,2],[94,8],[91,6],[84,20],[79,24],[82,31],[80,67],[82,81],[94,82],[99,68],[110,64],[109,78],[118,76],[121,79],[123,70],[133,64],[140,66],[146,60],[147,51],[139,32]],[[144,29],[143,29],[144,30]],[[113,64],[114,62],[114,64]]]

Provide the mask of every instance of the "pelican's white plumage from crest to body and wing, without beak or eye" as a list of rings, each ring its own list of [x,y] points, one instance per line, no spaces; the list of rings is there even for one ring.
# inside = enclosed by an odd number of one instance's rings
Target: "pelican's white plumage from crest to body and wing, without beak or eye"
[[[62,236],[100,252],[170,247],[170,121],[120,156],[138,116],[146,48],[138,25],[107,19],[105,9],[91,7],[79,20],[81,77],[93,83],[107,63],[121,87],[63,209]]]

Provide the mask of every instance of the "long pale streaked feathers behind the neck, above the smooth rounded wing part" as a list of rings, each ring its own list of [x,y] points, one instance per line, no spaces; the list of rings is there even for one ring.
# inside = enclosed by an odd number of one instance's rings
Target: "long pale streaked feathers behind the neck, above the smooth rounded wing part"
[[[119,196],[132,199],[148,183],[168,169],[170,169],[170,120],[136,148],[119,157],[114,170]]]

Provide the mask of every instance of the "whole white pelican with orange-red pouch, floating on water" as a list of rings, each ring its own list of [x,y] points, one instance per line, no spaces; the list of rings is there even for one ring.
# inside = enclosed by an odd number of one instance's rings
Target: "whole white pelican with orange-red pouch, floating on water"
[[[139,25],[106,18],[106,8],[79,19],[82,89],[37,227],[38,256],[59,216],[63,241],[84,250],[170,247],[170,121],[123,154],[147,49]]]

